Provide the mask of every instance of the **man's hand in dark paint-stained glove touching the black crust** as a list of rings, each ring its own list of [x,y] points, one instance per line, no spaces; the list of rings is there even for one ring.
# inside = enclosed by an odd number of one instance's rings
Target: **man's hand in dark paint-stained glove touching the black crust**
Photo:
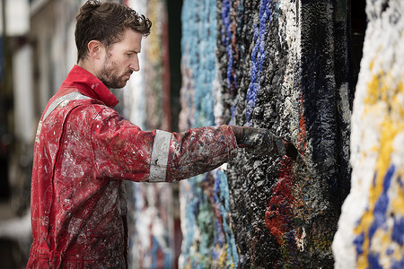
[[[288,143],[267,129],[232,126],[240,147],[247,152],[257,155],[284,156],[296,160],[297,150],[292,143]]]

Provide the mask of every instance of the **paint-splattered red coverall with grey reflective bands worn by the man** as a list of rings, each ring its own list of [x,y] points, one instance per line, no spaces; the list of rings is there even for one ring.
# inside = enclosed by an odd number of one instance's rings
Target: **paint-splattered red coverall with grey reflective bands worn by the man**
[[[78,100],[56,101],[72,92]],[[27,268],[125,268],[121,179],[171,182],[236,154],[230,126],[144,132],[119,116],[117,103],[77,65],[49,100],[35,139]]]

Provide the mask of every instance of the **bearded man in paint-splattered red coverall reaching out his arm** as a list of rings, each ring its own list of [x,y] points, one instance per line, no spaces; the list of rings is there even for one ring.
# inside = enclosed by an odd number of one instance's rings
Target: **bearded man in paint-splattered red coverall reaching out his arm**
[[[98,1],[83,4],[76,19],[77,65],[49,100],[35,140],[28,268],[127,267],[123,179],[190,178],[229,161],[238,145],[295,153],[263,129],[140,130],[113,109],[118,100],[109,89],[124,87],[139,70],[151,22],[127,6]]]

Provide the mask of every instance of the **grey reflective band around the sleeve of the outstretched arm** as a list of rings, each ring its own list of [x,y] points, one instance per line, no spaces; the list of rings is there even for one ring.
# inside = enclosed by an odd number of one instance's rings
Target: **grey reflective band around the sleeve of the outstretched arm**
[[[165,181],[170,143],[171,133],[155,131],[149,182]]]

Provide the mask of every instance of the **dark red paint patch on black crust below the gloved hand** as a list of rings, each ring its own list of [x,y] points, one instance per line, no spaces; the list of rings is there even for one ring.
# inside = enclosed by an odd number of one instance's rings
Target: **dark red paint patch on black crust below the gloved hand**
[[[292,167],[292,160],[285,156],[281,161],[277,186],[274,187],[265,213],[265,225],[277,239],[279,245],[283,243],[285,232],[294,230],[294,196],[291,190],[294,185]]]

